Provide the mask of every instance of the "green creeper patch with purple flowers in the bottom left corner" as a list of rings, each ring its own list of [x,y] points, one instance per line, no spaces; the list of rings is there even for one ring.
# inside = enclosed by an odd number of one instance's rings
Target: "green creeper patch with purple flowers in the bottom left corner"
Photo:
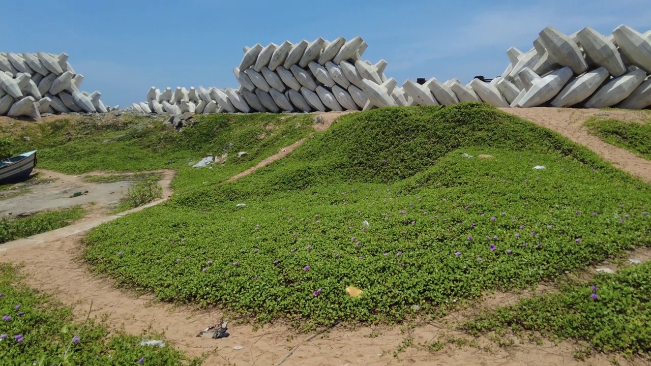
[[[201,365],[165,345],[141,346],[141,337],[109,334],[102,324],[74,322],[72,310],[21,285],[11,266],[0,270],[2,365]],[[154,336],[152,339],[160,339]]]

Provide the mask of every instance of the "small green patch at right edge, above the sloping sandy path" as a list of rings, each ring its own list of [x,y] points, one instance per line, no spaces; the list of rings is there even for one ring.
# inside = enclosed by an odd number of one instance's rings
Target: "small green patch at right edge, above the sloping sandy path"
[[[622,122],[616,119],[589,119],[588,131],[603,141],[651,160],[651,122]]]

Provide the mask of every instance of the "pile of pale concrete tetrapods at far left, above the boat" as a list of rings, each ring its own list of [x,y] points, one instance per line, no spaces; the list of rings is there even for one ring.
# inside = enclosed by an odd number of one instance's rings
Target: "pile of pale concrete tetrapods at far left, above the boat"
[[[42,113],[106,113],[102,94],[80,92],[81,81],[66,53],[0,53],[0,115],[38,120]]]

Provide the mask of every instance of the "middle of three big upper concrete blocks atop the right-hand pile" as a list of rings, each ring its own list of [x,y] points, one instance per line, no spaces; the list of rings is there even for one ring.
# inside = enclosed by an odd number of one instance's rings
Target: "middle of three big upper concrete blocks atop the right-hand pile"
[[[609,74],[620,77],[626,74],[626,66],[617,47],[607,37],[590,27],[585,27],[577,33],[585,57],[598,66],[603,66]]]

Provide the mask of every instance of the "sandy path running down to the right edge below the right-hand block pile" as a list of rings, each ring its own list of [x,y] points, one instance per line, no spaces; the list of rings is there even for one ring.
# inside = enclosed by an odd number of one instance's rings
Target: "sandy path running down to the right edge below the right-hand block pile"
[[[596,152],[603,159],[613,163],[618,169],[622,169],[633,176],[651,183],[651,161],[633,153],[605,143],[599,137],[590,135],[583,127],[590,117],[603,119],[620,119],[637,122],[642,118],[649,117],[646,111],[622,111],[610,109],[573,109],[573,108],[500,108],[501,110],[530,120],[540,126],[554,130],[568,139],[583,145]]]

